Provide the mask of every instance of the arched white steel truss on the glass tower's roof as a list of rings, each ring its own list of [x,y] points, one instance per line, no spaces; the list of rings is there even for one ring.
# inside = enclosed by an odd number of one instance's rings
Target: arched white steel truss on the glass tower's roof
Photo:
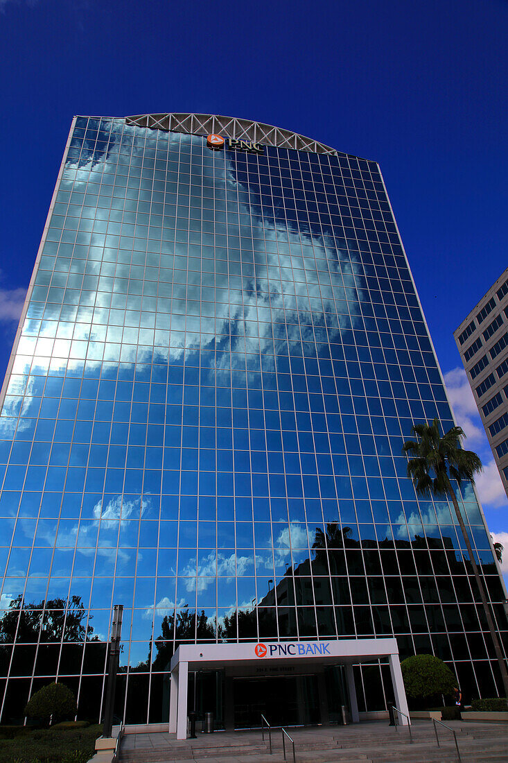
[[[330,153],[337,156],[335,149],[317,140],[311,140],[291,130],[281,130],[280,127],[273,127],[271,124],[252,122],[249,119],[220,117],[217,114],[138,114],[134,117],[126,117],[125,121],[127,124],[151,127],[153,130],[172,130],[191,135],[216,133],[237,140],[252,140],[254,143],[262,143],[263,146],[292,148],[311,153]]]

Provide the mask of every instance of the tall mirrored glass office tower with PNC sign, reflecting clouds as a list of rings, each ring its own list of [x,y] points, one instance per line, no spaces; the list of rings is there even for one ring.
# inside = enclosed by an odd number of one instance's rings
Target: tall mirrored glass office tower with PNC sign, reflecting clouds
[[[406,476],[413,423],[453,420],[376,163],[242,120],[76,118],[3,392],[5,722],[55,678],[99,717],[113,604],[127,722],[167,720],[182,642],[395,635],[497,694],[453,511]],[[384,708],[384,666],[356,678]],[[194,684],[219,716],[221,681]]]

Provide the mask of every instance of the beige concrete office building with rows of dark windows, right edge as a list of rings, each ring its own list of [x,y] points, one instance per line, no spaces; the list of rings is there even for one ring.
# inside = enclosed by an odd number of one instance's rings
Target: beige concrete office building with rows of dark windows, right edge
[[[508,268],[454,332],[508,495]]]

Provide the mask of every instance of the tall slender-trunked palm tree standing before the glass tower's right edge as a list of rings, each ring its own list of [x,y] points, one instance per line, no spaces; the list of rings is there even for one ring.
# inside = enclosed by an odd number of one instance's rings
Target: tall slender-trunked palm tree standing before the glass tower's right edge
[[[508,673],[506,672],[503,652],[501,651],[497,631],[494,627],[494,620],[487,604],[484,584],[474,561],[471,542],[458,507],[457,496],[452,488],[452,479],[459,486],[464,480],[471,481],[474,484],[474,475],[481,472],[482,469],[481,460],[473,451],[462,449],[461,440],[465,437],[465,433],[461,427],[452,427],[444,436],[441,436],[439,433],[439,421],[434,419],[432,424],[427,422],[415,424],[412,430],[413,434],[419,439],[416,442],[408,440],[403,446],[404,454],[411,456],[407,464],[407,476],[413,480],[417,494],[426,497],[429,497],[429,495],[436,497],[448,496],[452,499],[457,521],[464,536],[466,549],[468,549],[474,578],[476,578],[477,587],[480,591],[481,603],[484,606],[490,636],[494,642],[497,662],[499,663],[501,678],[503,679],[504,693],[508,697]]]

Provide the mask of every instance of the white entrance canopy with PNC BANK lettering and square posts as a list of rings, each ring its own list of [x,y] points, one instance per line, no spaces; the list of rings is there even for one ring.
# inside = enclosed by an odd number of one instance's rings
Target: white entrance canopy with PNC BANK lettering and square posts
[[[409,715],[397,639],[344,639],[343,641],[281,641],[240,644],[181,644],[171,660],[169,732],[187,738],[188,671],[220,670],[236,665],[248,667],[271,664],[344,665],[353,723],[358,723],[353,665],[382,658],[390,665],[395,705]],[[402,717],[402,723],[407,723]]]

